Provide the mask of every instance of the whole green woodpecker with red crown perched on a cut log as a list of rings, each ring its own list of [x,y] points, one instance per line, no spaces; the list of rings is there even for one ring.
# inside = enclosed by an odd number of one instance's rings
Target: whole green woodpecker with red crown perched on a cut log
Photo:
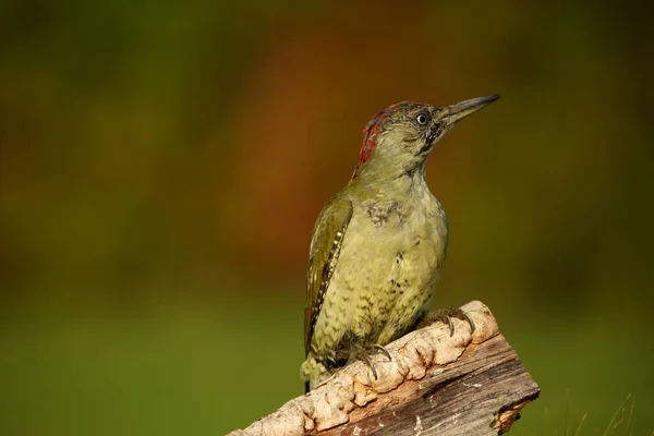
[[[393,104],[363,130],[350,182],[323,207],[314,225],[304,308],[308,392],[331,374],[412,329],[451,317],[474,324],[461,310],[428,311],[447,255],[448,219],[425,180],[425,162],[452,126],[499,95],[436,107]]]

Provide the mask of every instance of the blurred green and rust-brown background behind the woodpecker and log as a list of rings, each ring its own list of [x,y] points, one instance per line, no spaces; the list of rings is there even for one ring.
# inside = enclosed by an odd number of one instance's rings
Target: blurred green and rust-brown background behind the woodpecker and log
[[[516,434],[602,434],[632,395],[649,435],[646,11],[1,2],[0,434],[222,434],[300,395],[311,230],[361,129],[499,93],[428,161],[435,305],[484,301],[540,383]]]

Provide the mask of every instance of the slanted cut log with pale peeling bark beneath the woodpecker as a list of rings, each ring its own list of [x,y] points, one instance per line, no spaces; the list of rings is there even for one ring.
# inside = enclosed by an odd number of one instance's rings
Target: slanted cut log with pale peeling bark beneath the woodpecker
[[[483,303],[461,307],[475,323],[452,319],[390,343],[392,361],[372,356],[346,366],[310,393],[229,436],[496,435],[538,397],[529,375]]]

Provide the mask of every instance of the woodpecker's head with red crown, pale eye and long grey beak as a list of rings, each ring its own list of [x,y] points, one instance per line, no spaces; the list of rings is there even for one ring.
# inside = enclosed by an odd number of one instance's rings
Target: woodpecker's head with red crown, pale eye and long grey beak
[[[497,100],[471,98],[439,108],[421,102],[391,105],[371,119],[352,180],[395,179],[421,168],[436,143],[461,119]]]

